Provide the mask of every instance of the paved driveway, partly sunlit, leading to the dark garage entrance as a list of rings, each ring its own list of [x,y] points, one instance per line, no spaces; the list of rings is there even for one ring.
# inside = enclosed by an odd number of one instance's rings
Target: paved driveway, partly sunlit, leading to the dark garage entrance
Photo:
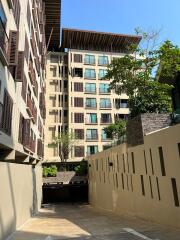
[[[114,216],[88,205],[46,206],[10,240],[180,240],[180,229]]]

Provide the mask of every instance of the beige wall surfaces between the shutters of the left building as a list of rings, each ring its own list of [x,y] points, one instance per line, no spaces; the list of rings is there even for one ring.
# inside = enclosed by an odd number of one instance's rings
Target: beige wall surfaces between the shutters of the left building
[[[3,62],[0,59],[0,81],[1,81],[1,87],[0,87],[0,105],[3,106],[4,104],[4,94],[5,91],[7,91],[10,95],[10,97],[13,100],[13,110],[12,110],[12,116],[9,116],[10,119],[12,119],[12,126],[11,126],[11,134],[6,134],[1,128],[0,128],[0,151],[3,151],[3,155],[0,156],[0,160],[10,160],[10,161],[31,161],[33,163],[36,163],[42,159],[42,156],[39,156],[37,153],[37,142],[38,139],[41,139],[43,141],[43,130],[42,133],[40,133],[40,130],[38,128],[39,125],[43,128],[43,118],[40,113],[40,93],[43,91],[43,88],[45,86],[44,82],[44,71],[41,68],[40,65],[40,73],[38,74],[36,64],[35,64],[35,57],[39,59],[41,62],[42,56],[39,52],[39,44],[42,41],[42,34],[40,33],[39,29],[39,22],[37,23],[36,31],[37,34],[35,37],[35,45],[36,45],[36,56],[33,52],[31,40],[32,40],[32,29],[35,29],[35,23],[34,18],[32,14],[32,4],[33,1],[29,0],[19,0],[20,4],[20,22],[19,22],[19,28],[17,28],[15,23],[15,18],[13,14],[13,10],[9,7],[8,2],[2,0],[2,7],[5,12],[5,16],[7,19],[6,23],[6,34],[7,37],[10,37],[10,31],[19,31],[19,40],[18,40],[18,51],[26,51],[25,49],[25,35],[28,39],[28,45],[29,45],[29,53],[28,53],[28,61],[25,60],[24,57],[24,66],[23,66],[23,74],[24,78],[23,81],[25,81],[25,78],[27,80],[26,85],[26,99],[24,100],[22,97],[22,86],[23,83],[21,81],[16,81],[13,79],[10,71],[9,71],[9,63],[7,65],[4,65]],[[31,23],[30,26],[28,26],[28,20],[27,20],[27,6],[30,6],[30,12],[31,12]],[[34,1],[34,5],[36,6],[36,2]],[[37,9],[35,7],[35,9]],[[29,17],[29,16],[28,16]],[[36,19],[37,20],[37,19]],[[38,36],[38,37],[37,37]],[[8,47],[8,42],[6,41],[6,45]],[[32,84],[30,77],[29,77],[29,61],[30,56],[32,57],[32,63],[34,68],[34,74],[35,74],[35,80],[38,85],[38,92],[37,96],[35,96],[34,92],[34,85]],[[29,89],[29,90],[28,90]],[[31,149],[24,149],[24,144],[19,143],[19,129],[23,128],[22,125],[20,125],[20,115],[24,119],[31,119],[27,112],[27,92],[31,92],[31,99],[34,101],[34,106],[37,109],[37,121],[34,123],[31,121],[30,123],[30,129],[33,132],[34,137],[36,138],[35,142],[35,151],[31,151]],[[0,114],[0,125],[1,125],[1,114]],[[1,131],[2,130],[2,131]]]

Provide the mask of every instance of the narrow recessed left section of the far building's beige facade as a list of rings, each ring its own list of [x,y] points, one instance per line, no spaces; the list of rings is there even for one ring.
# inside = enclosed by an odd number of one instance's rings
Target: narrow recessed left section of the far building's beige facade
[[[49,52],[47,55],[45,161],[60,161],[58,148],[48,145],[68,126],[68,117],[64,117],[64,111],[68,111],[68,89],[64,82],[69,84],[64,56],[67,57],[67,53]]]

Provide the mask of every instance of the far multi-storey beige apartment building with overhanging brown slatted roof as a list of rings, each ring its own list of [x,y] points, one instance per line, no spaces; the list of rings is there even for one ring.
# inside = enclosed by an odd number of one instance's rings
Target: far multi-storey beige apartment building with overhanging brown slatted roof
[[[62,30],[63,52],[49,52],[47,57],[46,161],[60,161],[59,148],[50,143],[67,129],[77,138],[69,161],[80,161],[111,142],[104,128],[128,116],[128,96],[111,91],[111,79],[104,76],[112,59],[128,53],[129,46],[140,40],[139,36]]]

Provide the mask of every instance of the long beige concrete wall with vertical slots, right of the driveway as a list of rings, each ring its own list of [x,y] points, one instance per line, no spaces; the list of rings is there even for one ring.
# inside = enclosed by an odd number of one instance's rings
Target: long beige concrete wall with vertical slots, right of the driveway
[[[145,136],[143,145],[122,144],[88,161],[92,206],[180,227],[180,124]]]

